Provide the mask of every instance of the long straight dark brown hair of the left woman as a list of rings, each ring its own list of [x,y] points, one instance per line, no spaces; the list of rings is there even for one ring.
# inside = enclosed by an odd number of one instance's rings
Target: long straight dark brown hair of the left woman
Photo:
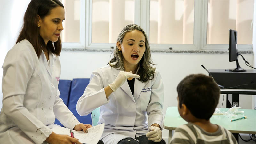
[[[59,56],[61,52],[60,36],[56,42],[48,41],[45,45],[43,38],[40,36],[40,27],[37,26],[37,15],[44,19],[53,8],[58,6],[64,8],[63,4],[58,0],[31,0],[25,12],[23,26],[16,44],[27,39],[33,45],[37,57],[41,55],[42,50],[50,51]]]

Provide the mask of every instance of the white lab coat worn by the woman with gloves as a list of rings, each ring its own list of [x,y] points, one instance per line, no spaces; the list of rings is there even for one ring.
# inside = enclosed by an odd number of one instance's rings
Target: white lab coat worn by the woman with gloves
[[[100,107],[98,123],[105,123],[101,140],[105,144],[116,144],[126,137],[135,138],[148,132],[154,123],[163,128],[164,86],[158,70],[152,80],[134,82],[134,94],[128,82],[106,99],[104,87],[112,83],[121,70],[109,65],[92,72],[90,84],[77,102],[79,115],[88,115]]]

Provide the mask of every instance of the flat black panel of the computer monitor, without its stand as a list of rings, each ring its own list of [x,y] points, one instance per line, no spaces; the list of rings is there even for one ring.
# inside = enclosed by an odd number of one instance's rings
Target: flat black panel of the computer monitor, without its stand
[[[229,30],[229,61],[237,59],[237,31]]]

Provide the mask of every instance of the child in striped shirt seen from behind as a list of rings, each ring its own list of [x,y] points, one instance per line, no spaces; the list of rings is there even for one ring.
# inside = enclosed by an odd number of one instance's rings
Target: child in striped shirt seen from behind
[[[177,86],[178,111],[188,122],[175,129],[171,143],[237,143],[231,132],[210,123],[220,96],[212,77],[186,76]]]

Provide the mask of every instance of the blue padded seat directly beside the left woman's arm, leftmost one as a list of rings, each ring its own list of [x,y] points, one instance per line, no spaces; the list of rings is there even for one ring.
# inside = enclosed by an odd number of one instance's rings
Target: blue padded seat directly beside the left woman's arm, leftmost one
[[[60,80],[59,81],[59,91],[60,91],[60,98],[63,100],[64,104],[68,107],[68,99],[70,94],[70,87],[71,87],[71,80]],[[58,124],[63,127],[60,121],[55,119],[55,124]]]

